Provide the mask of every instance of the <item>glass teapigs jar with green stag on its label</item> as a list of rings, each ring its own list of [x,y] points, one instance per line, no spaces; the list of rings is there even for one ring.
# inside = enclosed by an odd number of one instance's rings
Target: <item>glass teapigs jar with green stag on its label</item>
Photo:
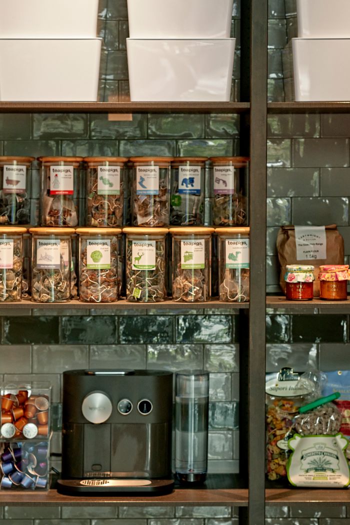
[[[126,234],[126,300],[164,301],[168,228],[123,228],[123,233]]]

